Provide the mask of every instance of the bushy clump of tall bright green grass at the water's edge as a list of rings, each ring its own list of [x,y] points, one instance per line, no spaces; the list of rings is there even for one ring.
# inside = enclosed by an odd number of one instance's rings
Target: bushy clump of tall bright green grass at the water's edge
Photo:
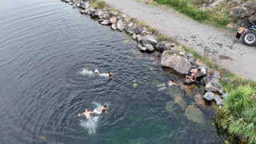
[[[232,90],[222,107],[219,124],[230,134],[256,142],[256,87],[246,84]]]

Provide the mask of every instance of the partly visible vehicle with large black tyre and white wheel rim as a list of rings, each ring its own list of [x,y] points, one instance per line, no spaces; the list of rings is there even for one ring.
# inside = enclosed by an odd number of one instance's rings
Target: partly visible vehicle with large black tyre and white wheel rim
[[[251,26],[250,29],[242,35],[242,42],[246,46],[254,46],[256,44],[256,26]]]

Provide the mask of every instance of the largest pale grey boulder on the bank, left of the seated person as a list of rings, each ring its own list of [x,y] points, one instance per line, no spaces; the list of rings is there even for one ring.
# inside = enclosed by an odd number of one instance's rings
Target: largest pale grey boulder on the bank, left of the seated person
[[[161,66],[168,67],[178,74],[188,74],[192,66],[188,59],[173,54],[170,50],[162,53],[160,63]]]

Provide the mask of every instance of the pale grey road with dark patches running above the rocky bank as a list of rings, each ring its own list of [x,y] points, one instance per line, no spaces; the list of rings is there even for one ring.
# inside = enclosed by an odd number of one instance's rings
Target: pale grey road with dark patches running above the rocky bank
[[[138,18],[162,34],[206,54],[226,70],[256,80],[256,46],[234,43],[235,32],[220,30],[186,18],[173,10],[162,10],[138,0],[106,0],[122,13]]]

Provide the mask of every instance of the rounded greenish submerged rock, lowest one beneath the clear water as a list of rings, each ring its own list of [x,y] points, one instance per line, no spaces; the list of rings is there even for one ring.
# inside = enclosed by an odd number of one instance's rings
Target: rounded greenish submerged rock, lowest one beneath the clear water
[[[196,108],[194,105],[187,106],[185,115],[192,122],[196,122],[199,124],[204,124],[205,122],[202,111]]]

